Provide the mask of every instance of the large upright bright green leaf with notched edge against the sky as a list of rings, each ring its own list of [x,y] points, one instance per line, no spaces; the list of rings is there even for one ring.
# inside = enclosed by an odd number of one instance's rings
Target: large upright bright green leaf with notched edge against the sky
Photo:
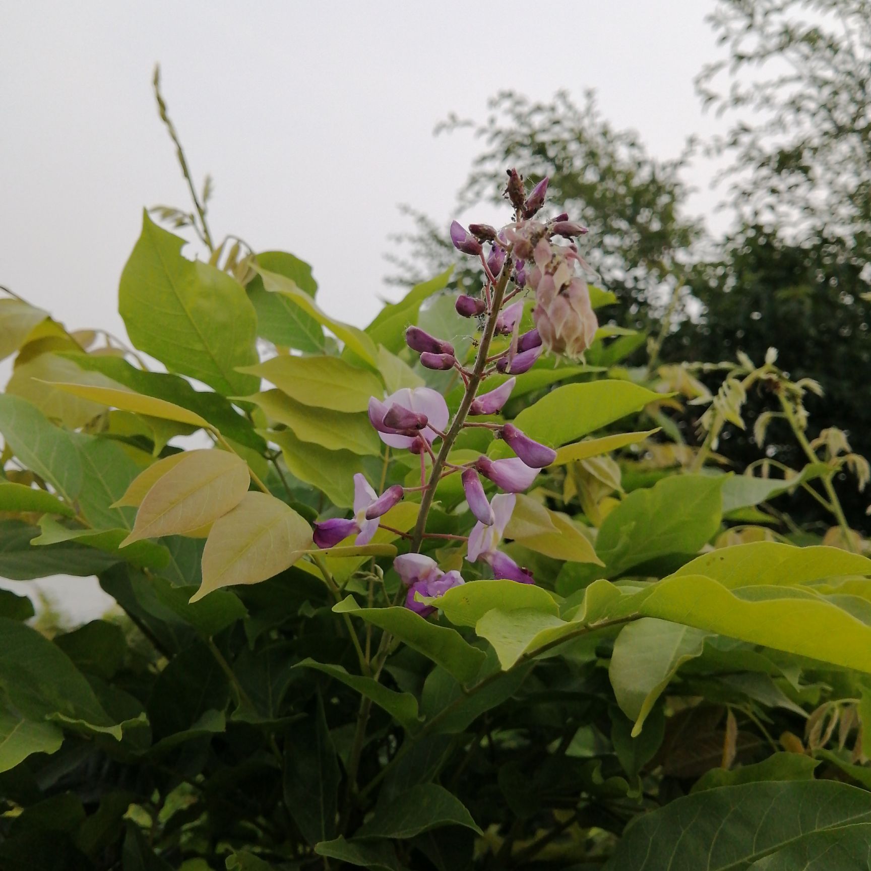
[[[253,393],[257,379],[236,368],[257,361],[254,307],[230,275],[186,260],[184,245],[143,213],[142,234],[118,289],[127,334],[173,372],[225,395]]]

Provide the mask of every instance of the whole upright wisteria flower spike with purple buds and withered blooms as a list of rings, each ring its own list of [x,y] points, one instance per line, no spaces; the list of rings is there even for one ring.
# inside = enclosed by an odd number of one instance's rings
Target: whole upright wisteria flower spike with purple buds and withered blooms
[[[395,558],[394,568],[407,590],[405,604],[422,617],[436,611],[434,600],[464,583],[460,571],[442,571],[435,559],[420,552],[429,539],[442,537],[429,533],[426,523],[436,486],[449,475],[461,476],[466,504],[476,520],[469,537],[459,537],[466,544],[469,562],[489,566],[494,578],[535,583],[531,572],[500,550],[500,545],[515,509],[515,494],[530,488],[539,471],[554,462],[556,451],[526,436],[511,422],[469,418],[499,415],[517,386],[517,376],[528,372],[545,351],[575,359],[590,347],[598,328],[589,289],[579,274],[586,264],[572,241],[586,229],[567,214],[541,219],[547,186],[545,178],[527,195],[523,179],[509,170],[505,196],[514,207],[510,224],[499,230],[486,224],[470,224],[467,229],[457,221],[450,226],[456,249],[480,260],[483,271],[481,294],[463,294],[456,300],[457,314],[476,319],[480,331],[474,361],[457,359],[449,341],[420,327],[406,331],[408,348],[420,354],[422,367],[456,370],[462,379],[463,401],[453,418],[444,397],[431,388],[402,388],[386,398],[369,400],[369,421],[381,441],[391,449],[420,456],[421,485],[395,484],[379,495],[357,474],[354,517],[314,524],[314,543],[320,548],[333,547],[350,536],[354,544],[368,544],[379,518],[406,496],[420,494],[415,530],[401,533],[408,538],[410,550]],[[528,300],[534,326],[521,333]],[[508,347],[490,354],[496,336],[508,337]],[[509,377],[479,394],[492,375]],[[491,429],[515,456],[492,459],[482,454],[469,463],[451,463],[456,436],[468,427]],[[488,498],[483,479],[501,492]]]

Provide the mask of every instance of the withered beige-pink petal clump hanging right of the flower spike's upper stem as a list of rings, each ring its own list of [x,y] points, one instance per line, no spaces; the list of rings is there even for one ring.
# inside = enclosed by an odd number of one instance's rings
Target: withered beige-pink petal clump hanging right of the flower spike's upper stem
[[[589,348],[598,329],[584,280],[573,278],[557,289],[554,281],[542,281],[536,294],[532,320],[544,348],[554,354],[577,358]]]

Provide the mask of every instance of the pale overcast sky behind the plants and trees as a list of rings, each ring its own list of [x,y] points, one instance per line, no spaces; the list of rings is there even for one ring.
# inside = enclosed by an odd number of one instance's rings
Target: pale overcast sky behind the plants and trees
[[[151,90],[163,91],[213,233],[314,266],[321,305],[364,324],[409,203],[449,223],[479,150],[434,138],[500,89],[595,88],[660,158],[711,132],[692,79],[711,0],[611,3],[0,2],[0,284],[68,327],[122,333],[118,276],[142,206],[188,207]],[[688,178],[710,213],[710,167]],[[80,584],[82,582],[75,582]]]

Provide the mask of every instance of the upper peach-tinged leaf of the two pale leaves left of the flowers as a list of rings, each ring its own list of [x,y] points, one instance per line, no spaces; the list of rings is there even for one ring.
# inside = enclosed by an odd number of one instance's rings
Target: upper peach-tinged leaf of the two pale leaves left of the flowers
[[[199,529],[240,503],[250,483],[246,463],[224,450],[192,451],[160,476],[145,494],[133,531],[122,546],[141,538]]]

